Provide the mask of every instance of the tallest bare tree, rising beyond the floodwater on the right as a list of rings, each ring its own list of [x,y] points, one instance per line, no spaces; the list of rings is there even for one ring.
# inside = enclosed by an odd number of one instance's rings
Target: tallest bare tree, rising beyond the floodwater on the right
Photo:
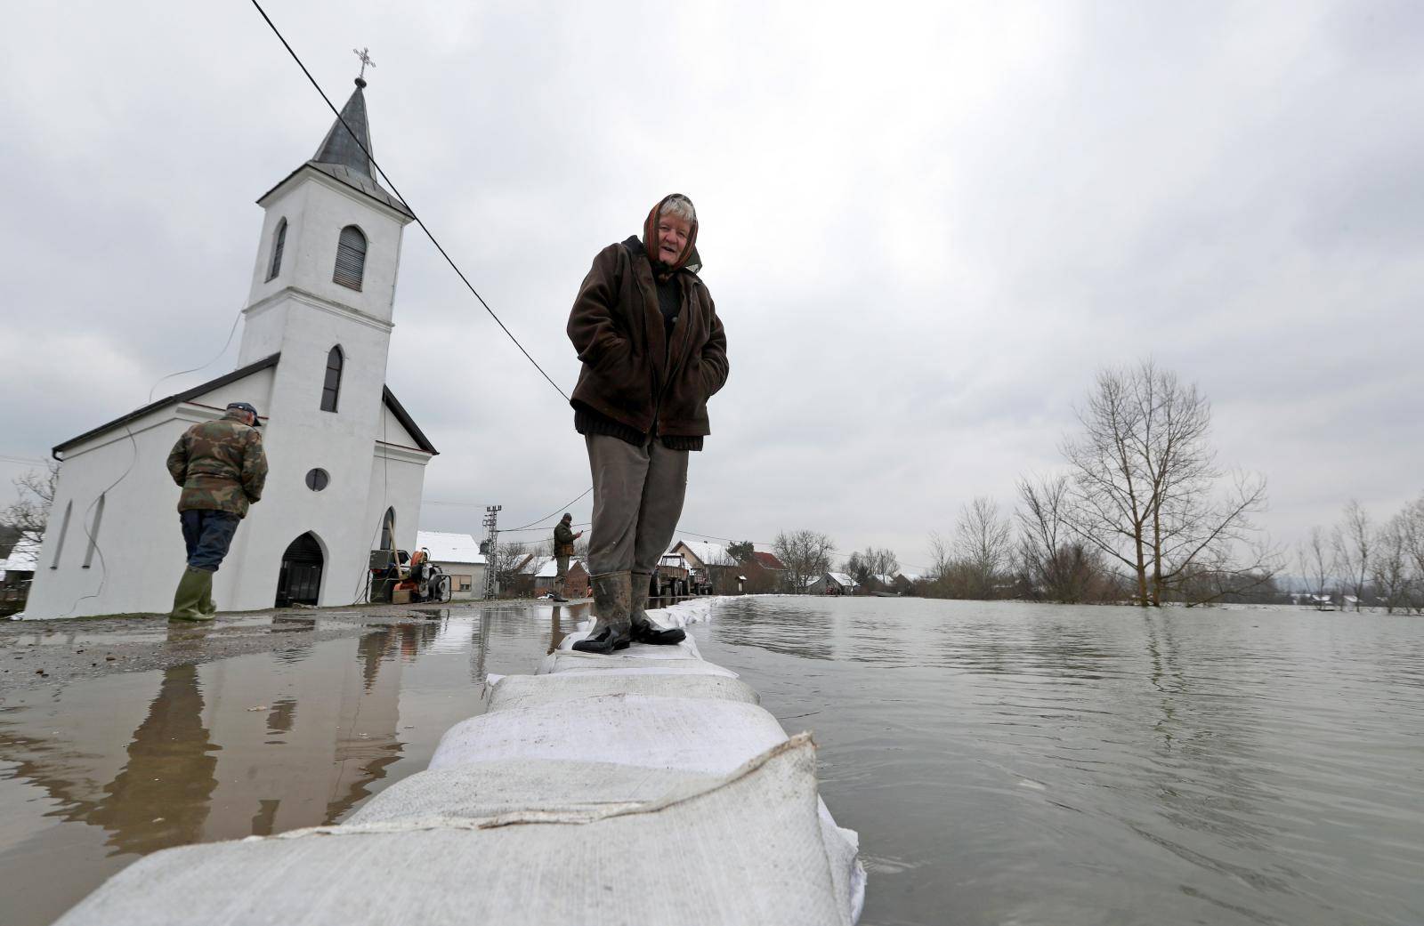
[[[1256,536],[1266,481],[1225,472],[1209,447],[1212,411],[1196,385],[1145,361],[1104,370],[1078,411],[1084,432],[1064,442],[1072,468],[1074,532],[1125,565],[1143,607],[1183,592],[1203,568],[1270,575],[1272,550],[1242,548]],[[1199,585],[1199,583],[1198,583]]]

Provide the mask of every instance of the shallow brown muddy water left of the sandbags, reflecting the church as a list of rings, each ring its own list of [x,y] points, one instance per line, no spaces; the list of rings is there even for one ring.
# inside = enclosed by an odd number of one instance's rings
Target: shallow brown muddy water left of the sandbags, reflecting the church
[[[423,770],[440,735],[480,713],[486,673],[533,671],[582,612],[431,610],[422,624],[7,694],[0,923],[50,923],[157,849],[343,819]],[[242,632],[296,626],[249,623]],[[194,633],[137,624],[21,634],[14,644],[118,646]]]

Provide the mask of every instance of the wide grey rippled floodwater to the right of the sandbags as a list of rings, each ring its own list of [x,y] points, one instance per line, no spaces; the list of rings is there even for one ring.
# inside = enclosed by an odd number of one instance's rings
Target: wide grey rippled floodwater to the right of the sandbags
[[[698,639],[815,731],[863,923],[1424,923],[1424,620],[742,599]]]

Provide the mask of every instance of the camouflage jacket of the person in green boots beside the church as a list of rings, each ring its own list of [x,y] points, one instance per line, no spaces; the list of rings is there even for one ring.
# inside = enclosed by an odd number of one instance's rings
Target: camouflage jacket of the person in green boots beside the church
[[[262,498],[262,434],[231,413],[188,428],[168,454],[168,474],[182,486],[178,511],[226,511],[239,518]]]

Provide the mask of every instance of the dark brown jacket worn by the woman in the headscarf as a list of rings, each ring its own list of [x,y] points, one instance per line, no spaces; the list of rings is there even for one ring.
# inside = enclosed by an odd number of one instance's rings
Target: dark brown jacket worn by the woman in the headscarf
[[[682,310],[664,336],[652,265],[625,245],[609,245],[568,314],[568,340],[584,368],[572,405],[584,404],[644,434],[711,434],[708,398],[726,383],[726,334],[712,294],[692,270],[675,275]],[[656,415],[656,422],[654,422]]]

